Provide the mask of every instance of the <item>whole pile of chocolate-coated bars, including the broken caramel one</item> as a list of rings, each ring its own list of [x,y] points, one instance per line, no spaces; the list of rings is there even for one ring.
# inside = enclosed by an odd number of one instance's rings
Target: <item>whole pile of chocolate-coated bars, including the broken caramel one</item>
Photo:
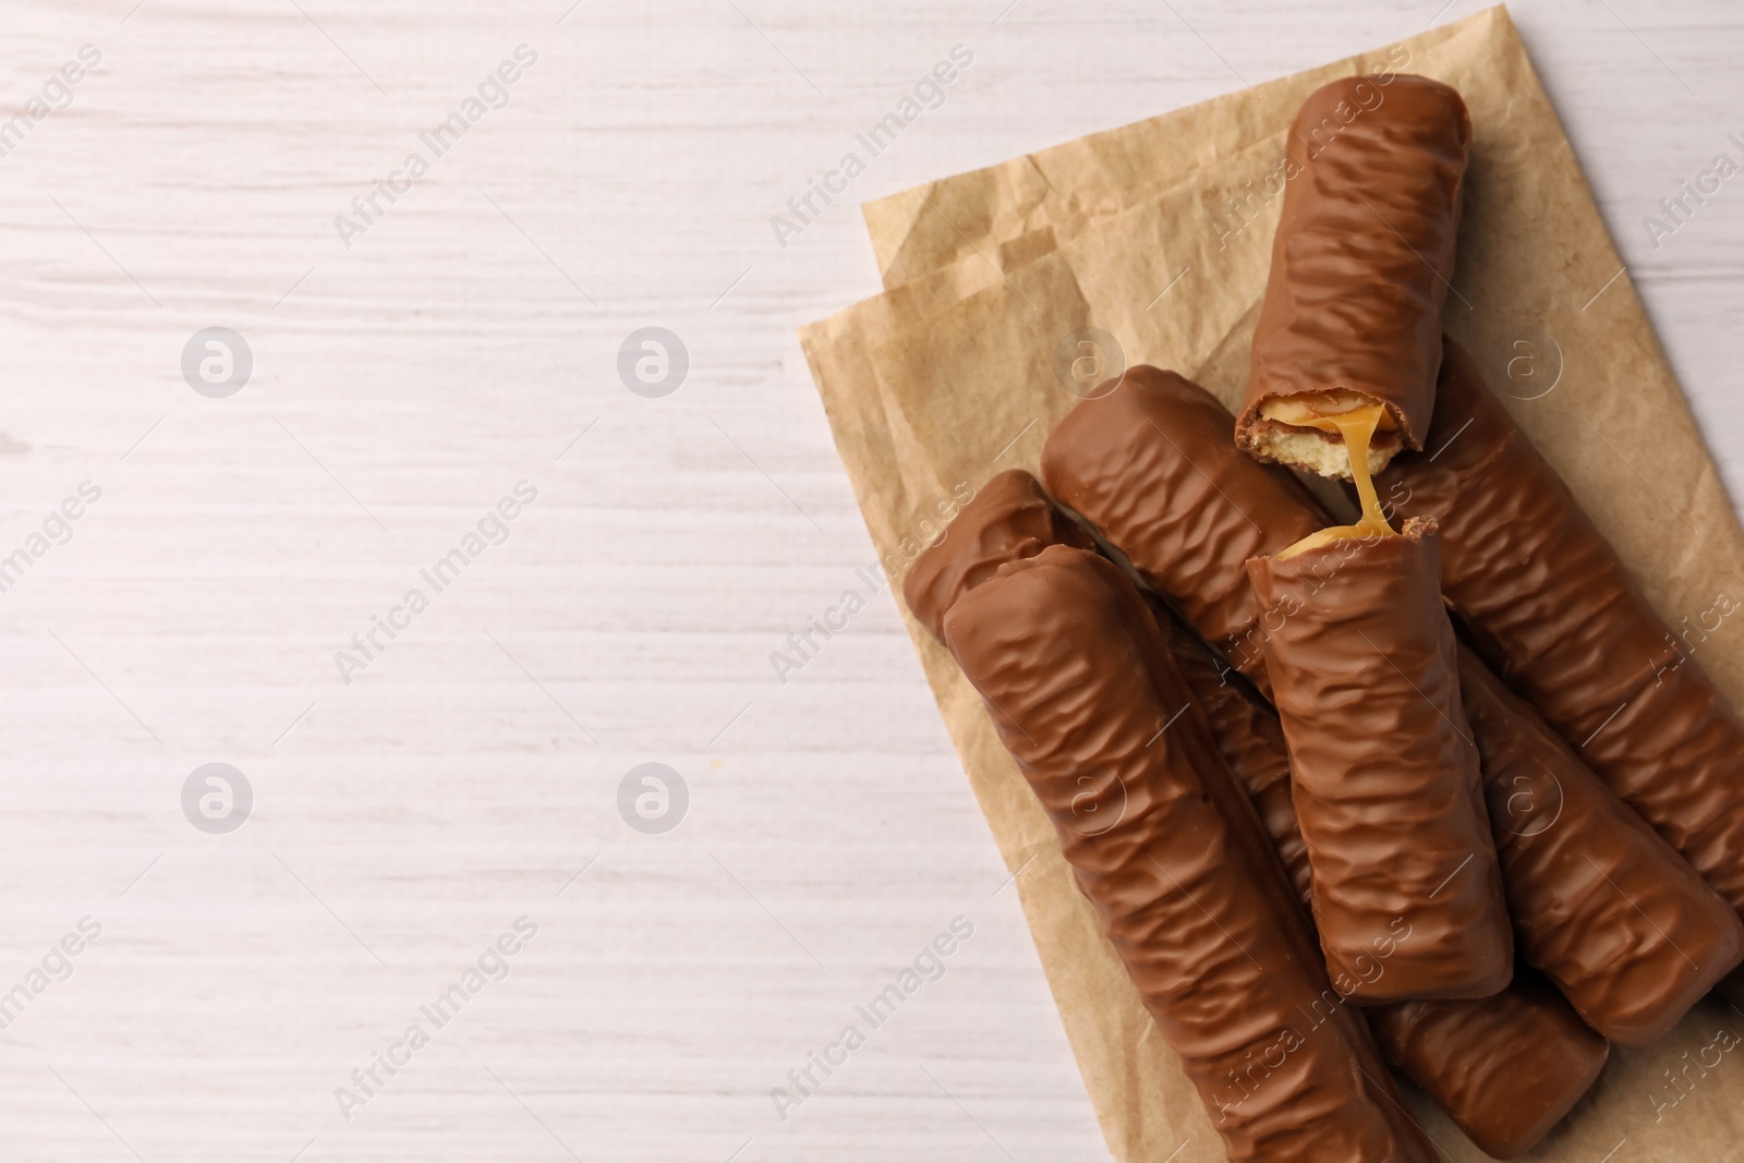
[[[1744,724],[1441,333],[1460,94],[1364,84],[1292,129],[1240,415],[1132,368],[903,595],[1231,1160],[1437,1158],[1392,1071],[1512,1158],[1744,959]]]

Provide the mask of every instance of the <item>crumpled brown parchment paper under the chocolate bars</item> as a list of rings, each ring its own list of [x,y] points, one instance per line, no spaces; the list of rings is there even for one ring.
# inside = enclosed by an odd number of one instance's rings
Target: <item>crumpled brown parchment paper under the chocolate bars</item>
[[[1622,262],[1503,9],[867,206],[889,289],[804,328],[800,342],[893,581],[954,495],[1008,467],[1038,469],[1043,438],[1076,403],[1055,352],[1078,328],[1113,335],[1127,364],[1181,370],[1233,406],[1282,202],[1252,190],[1264,190],[1311,89],[1381,70],[1446,80],[1472,108],[1448,330],[1512,396],[1671,624],[1713,624],[1735,605],[1737,518],[1627,274],[1613,279]],[[1245,201],[1242,216],[1231,197]],[[980,699],[903,617],[1017,874],[1109,1149],[1123,1161],[1221,1160]],[[1744,694],[1741,635],[1723,622],[1695,643],[1734,699]],[[1704,1003],[1660,1046],[1615,1048],[1575,1118],[1533,1158],[1744,1158],[1741,1037],[1744,1013]],[[1413,1102],[1448,1158],[1484,1158],[1421,1097]]]

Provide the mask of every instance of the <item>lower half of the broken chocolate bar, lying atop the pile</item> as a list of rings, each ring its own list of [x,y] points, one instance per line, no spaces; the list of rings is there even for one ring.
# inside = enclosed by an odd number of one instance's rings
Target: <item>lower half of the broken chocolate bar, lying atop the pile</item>
[[[1252,558],[1313,915],[1357,1001],[1488,997],[1514,931],[1465,724],[1432,521]]]

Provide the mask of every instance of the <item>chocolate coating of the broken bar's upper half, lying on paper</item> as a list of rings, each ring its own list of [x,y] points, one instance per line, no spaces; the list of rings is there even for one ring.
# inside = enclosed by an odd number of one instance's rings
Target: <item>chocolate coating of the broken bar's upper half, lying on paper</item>
[[[1345,77],[1308,96],[1285,146],[1243,445],[1266,399],[1348,389],[1423,446],[1470,145],[1465,101],[1425,77]]]

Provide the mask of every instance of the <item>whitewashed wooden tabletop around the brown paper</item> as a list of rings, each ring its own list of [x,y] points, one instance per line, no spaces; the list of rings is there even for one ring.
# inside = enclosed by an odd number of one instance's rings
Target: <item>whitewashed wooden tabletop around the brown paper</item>
[[[1106,1158],[888,589],[771,668],[874,556],[794,330],[877,289],[853,202],[1472,10],[1435,3],[12,0],[0,99],[47,115],[0,136],[0,1158]],[[1744,178],[1641,225],[1744,159],[1744,12],[1516,19],[1744,488]],[[619,380],[644,326],[689,352],[670,396]],[[204,328],[251,352],[230,396],[183,375]],[[253,793],[228,833],[183,813],[209,762]],[[619,813],[644,762],[687,786],[668,833]]]

